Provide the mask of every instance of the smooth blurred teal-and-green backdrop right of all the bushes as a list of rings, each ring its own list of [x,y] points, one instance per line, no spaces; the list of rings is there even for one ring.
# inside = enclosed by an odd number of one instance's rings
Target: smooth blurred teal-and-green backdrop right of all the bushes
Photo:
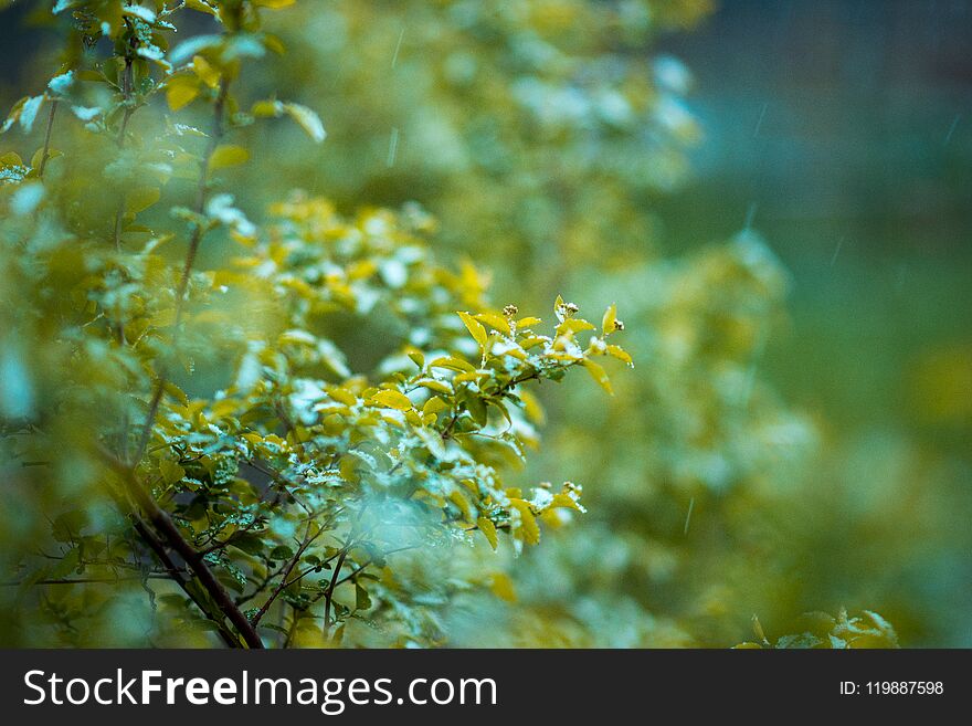
[[[972,645],[970,21],[965,2],[726,2],[662,43],[707,134],[659,206],[667,239],[751,224],[792,276],[764,370],[824,436],[826,515],[791,523],[816,545],[800,587],[869,598],[915,644]]]

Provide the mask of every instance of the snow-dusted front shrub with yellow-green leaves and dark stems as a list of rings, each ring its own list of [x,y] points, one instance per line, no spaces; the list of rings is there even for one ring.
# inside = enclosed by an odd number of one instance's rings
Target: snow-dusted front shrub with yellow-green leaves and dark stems
[[[583,511],[578,485],[524,492],[504,472],[537,443],[530,383],[582,367],[610,391],[598,359],[631,364],[613,306],[600,332],[560,298],[549,326],[490,309],[471,264],[435,262],[415,206],[346,219],[295,194],[257,224],[221,190],[250,157],[229,137],[256,118],[324,139],[300,104],[243,111],[244,63],[282,51],[262,10],[289,4],[53,7],[65,65],[4,125],[30,134],[47,112],[0,185],[3,470],[23,495],[2,517],[22,625],[6,638],[89,643],[105,621],[82,622],[123,619],[112,590],[141,587],[163,617],[123,643],[186,642],[188,623],[233,646],[334,644],[351,619],[439,643],[450,592],[508,580],[415,586],[410,554],[518,551]],[[170,49],[177,24],[213,32]]]

